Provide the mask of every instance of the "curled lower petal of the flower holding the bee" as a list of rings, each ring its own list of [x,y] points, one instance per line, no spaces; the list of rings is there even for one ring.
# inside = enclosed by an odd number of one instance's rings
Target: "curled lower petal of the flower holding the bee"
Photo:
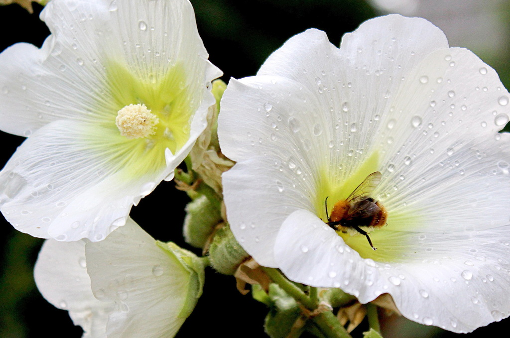
[[[508,230],[449,235],[391,231],[385,239],[397,240],[390,250],[405,255],[384,263],[360,257],[317,216],[298,210],[282,225],[275,255],[292,280],[341,288],[363,303],[389,293],[413,321],[470,332],[510,315],[504,287],[510,282],[510,265],[500,263],[510,253],[502,239]]]

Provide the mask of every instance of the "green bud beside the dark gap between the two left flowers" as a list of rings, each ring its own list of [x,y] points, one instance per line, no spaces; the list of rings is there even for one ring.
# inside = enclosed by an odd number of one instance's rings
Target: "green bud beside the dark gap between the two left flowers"
[[[220,211],[204,195],[189,202],[185,210],[184,240],[196,248],[203,248],[214,227],[221,221]]]

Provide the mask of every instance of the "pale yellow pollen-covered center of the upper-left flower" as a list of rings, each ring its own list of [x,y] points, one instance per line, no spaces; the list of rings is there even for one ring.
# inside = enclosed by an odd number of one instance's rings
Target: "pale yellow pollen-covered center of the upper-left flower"
[[[145,105],[129,105],[118,111],[115,125],[120,135],[128,139],[139,139],[156,134],[159,118]]]

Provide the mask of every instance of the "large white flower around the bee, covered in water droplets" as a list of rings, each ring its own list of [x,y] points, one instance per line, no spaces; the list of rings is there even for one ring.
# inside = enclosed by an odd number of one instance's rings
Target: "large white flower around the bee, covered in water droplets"
[[[509,315],[508,92],[428,21],[390,15],[317,30],[231,80],[219,140],[228,221],[261,265],[414,321],[468,332]],[[387,226],[367,238],[324,221],[371,173]],[[324,221],[323,221],[324,220]],[[352,228],[351,228],[352,230]],[[355,231],[354,231],[355,232]]]

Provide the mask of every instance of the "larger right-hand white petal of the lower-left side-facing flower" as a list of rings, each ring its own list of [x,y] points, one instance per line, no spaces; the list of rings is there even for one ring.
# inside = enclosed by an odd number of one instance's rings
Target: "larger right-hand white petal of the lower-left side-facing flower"
[[[86,245],[94,295],[113,301],[108,337],[172,337],[189,313],[190,272],[133,220],[106,240]]]

